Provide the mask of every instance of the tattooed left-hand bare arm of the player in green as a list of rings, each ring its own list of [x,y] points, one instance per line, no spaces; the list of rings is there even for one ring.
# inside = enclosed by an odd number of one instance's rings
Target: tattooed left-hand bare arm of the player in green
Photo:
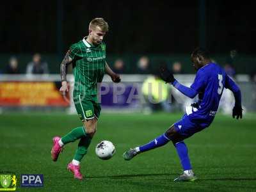
[[[60,92],[65,95],[66,92],[68,92],[68,86],[67,86],[67,66],[72,63],[72,58],[69,56],[70,50],[68,50],[67,54],[65,55],[65,58],[61,62],[60,65],[60,76],[61,76],[61,88]]]

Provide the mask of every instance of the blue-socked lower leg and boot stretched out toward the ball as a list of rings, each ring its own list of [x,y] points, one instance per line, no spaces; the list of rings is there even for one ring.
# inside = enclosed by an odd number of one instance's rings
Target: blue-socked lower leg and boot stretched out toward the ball
[[[156,139],[150,141],[146,145],[141,145],[140,147],[131,148],[130,150],[127,150],[124,152],[123,157],[126,161],[131,160],[133,157],[137,156],[141,152],[146,152],[148,150],[152,150],[153,148],[161,147],[168,143],[170,139],[164,134],[157,137]]]

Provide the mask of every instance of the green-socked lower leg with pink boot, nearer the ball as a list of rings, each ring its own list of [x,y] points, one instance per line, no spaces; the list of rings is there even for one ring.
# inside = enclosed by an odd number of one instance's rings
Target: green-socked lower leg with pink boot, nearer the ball
[[[83,159],[84,155],[87,153],[88,147],[92,141],[92,138],[90,136],[86,136],[84,138],[81,138],[81,140],[78,143],[78,148],[76,150],[76,154],[74,156],[74,159],[68,163],[67,169],[74,173],[74,178],[76,179],[83,179],[83,175],[80,172],[80,162]]]

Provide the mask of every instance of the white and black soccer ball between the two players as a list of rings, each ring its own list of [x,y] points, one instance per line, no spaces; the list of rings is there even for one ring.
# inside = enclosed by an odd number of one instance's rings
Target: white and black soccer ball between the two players
[[[95,148],[96,155],[102,160],[110,159],[115,152],[115,146],[111,141],[100,141]]]

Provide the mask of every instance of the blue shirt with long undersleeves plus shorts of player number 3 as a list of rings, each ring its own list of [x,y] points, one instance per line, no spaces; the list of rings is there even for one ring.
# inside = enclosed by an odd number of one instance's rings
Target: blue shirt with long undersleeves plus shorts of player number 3
[[[223,88],[228,88],[234,93],[235,106],[241,108],[239,87],[216,63],[208,63],[200,68],[190,88],[180,84],[177,80],[173,81],[172,84],[177,90],[190,98],[198,95],[199,107],[187,107],[182,120],[174,124],[175,130],[184,138],[209,127],[218,110]]]

